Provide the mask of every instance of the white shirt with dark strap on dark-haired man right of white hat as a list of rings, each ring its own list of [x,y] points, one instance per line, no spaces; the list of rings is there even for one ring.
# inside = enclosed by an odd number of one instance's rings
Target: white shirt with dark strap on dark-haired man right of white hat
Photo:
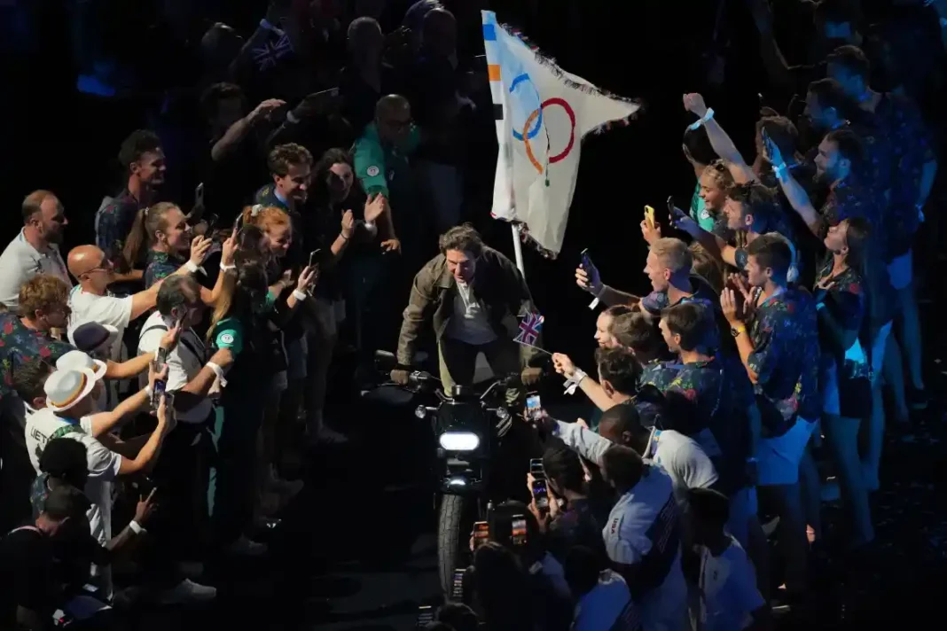
[[[157,311],[152,313],[141,327],[138,355],[157,353],[161,338],[167,332],[168,323],[162,315]],[[206,361],[206,349],[201,336],[188,328],[181,333],[177,345],[168,353],[168,382],[165,390],[173,393],[184,388],[191,379],[197,377]],[[188,412],[178,412],[177,418],[182,423],[203,423],[213,410],[213,402],[204,398]]]

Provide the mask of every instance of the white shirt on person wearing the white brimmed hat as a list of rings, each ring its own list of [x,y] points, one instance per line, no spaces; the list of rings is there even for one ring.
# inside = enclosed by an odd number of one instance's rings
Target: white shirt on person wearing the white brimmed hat
[[[40,454],[58,430],[73,427],[76,430],[62,435],[85,446],[89,479],[85,495],[92,502],[89,508],[89,526],[92,535],[105,545],[112,539],[112,482],[121,468],[121,456],[105,447],[92,436],[92,421],[82,418],[78,423],[67,423],[48,408],[27,413],[27,452],[29,462],[40,473]]]

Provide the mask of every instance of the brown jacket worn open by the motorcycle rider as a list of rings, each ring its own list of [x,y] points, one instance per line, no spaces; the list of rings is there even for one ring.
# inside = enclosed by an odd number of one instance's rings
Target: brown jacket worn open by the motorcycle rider
[[[519,333],[520,318],[535,311],[532,296],[523,274],[512,261],[496,250],[484,247],[474,272],[476,296],[486,307],[493,331],[500,339],[512,340]],[[421,327],[429,320],[434,324],[438,344],[454,315],[456,280],[447,268],[447,259],[438,254],[415,275],[411,298],[404,309],[402,334],[398,339],[398,362],[410,366],[417,350]],[[536,345],[540,345],[537,340]],[[523,364],[536,355],[536,350],[523,346]]]

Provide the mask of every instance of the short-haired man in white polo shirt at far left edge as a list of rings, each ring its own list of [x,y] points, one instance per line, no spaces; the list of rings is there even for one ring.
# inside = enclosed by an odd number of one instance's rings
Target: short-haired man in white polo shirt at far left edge
[[[33,276],[45,273],[72,286],[59,244],[69,225],[63,202],[47,190],[33,191],[23,201],[23,230],[0,255],[0,303],[19,306],[20,288]]]

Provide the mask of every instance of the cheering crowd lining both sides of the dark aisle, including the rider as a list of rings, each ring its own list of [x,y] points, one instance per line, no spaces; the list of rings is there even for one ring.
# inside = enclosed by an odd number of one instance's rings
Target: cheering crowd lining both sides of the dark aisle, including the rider
[[[801,66],[749,0],[788,105],[759,113],[744,157],[726,104],[683,96],[696,184],[686,210],[669,199],[641,221],[632,267],[651,292],[606,285],[583,254],[599,349],[548,359],[513,340],[539,311],[522,273],[466,223],[487,217],[491,178],[486,73],[458,44],[478,15],[421,0],[385,34],[386,3],[350,4],[272,0],[245,41],[205,32],[198,89],[170,107],[201,114],[207,142],[175,169],[199,173],[192,202],[165,188],[187,126],[116,148],[122,185],[94,235],[72,233],[82,211],[54,191],[24,199],[0,256],[0,627],[122,628],[124,607],[214,600],[208,551],[267,554],[254,537],[299,494],[282,476],[301,446],[348,441],[326,413],[333,358],[397,341],[406,385],[429,329],[445,390],[473,384],[482,353],[519,394],[558,373],[595,413],[516,411],[548,501],[530,472],[531,501],[496,509],[527,514],[529,544],[472,539],[470,589],[428,628],[805,615],[813,555],[871,554],[885,421],[927,405],[913,246],[938,160],[922,81],[876,85],[867,53],[884,43],[853,0],[813,4]],[[830,534],[821,504],[839,499]]]

